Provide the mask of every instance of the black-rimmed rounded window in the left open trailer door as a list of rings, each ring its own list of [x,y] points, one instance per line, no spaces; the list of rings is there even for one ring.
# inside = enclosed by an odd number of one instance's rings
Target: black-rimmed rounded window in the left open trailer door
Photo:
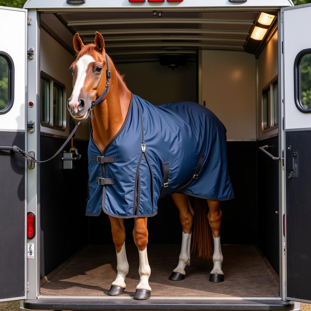
[[[12,58],[0,51],[0,114],[7,113],[14,101],[14,64]]]

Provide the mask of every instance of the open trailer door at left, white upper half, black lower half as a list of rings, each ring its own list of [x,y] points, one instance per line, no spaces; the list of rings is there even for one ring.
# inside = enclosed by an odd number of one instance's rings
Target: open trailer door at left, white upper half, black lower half
[[[24,299],[27,10],[0,7],[0,301]]]

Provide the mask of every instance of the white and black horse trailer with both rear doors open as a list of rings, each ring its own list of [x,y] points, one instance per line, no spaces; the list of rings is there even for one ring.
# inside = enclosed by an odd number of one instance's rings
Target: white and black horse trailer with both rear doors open
[[[20,300],[22,310],[271,311],[310,302],[310,16],[311,5],[290,0],[0,7],[0,301]],[[134,94],[153,104],[199,103],[225,125],[235,198],[221,202],[224,282],[209,282],[212,262],[195,254],[183,281],[168,279],[181,226],[164,197],[148,220],[151,298],[132,297],[132,220],[127,289],[108,296],[116,274],[108,216],[85,215],[91,124],[48,163],[14,152],[45,160],[66,141],[72,38],[78,32],[89,43],[95,31]]]

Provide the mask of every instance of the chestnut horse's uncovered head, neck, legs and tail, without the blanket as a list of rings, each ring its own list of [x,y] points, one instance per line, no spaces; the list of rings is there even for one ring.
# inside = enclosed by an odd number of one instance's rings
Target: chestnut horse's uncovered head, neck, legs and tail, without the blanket
[[[71,65],[73,91],[68,100],[68,109],[73,118],[85,120],[91,118],[93,140],[101,149],[109,144],[122,127],[128,113],[131,92],[122,76],[118,73],[112,60],[106,56],[104,39],[96,32],[95,44],[84,45],[76,34],[73,38],[77,58]],[[93,103],[101,97],[107,88],[107,62],[111,77],[107,92],[94,109]],[[186,274],[185,267],[190,265],[190,244],[193,233],[193,248],[197,248],[199,256],[209,258],[212,253],[211,234],[214,241],[213,263],[210,281],[223,281],[221,265],[223,256],[220,248],[221,210],[219,201],[195,199],[191,206],[187,194],[173,193],[174,203],[179,209],[182,225],[182,246],[177,267],[170,276],[171,280],[182,280]],[[208,205],[208,207],[207,207]],[[117,277],[112,282],[108,295],[124,293],[125,277],[128,274],[128,261],[125,252],[124,219],[109,215],[113,241],[117,253]],[[208,220],[208,221],[207,221]],[[194,224],[194,225],[193,225]],[[209,225],[208,225],[209,224]],[[193,232],[192,232],[193,231]],[[210,234],[210,235],[209,235]],[[135,218],[133,237],[139,251],[140,281],[136,287],[135,299],[148,299],[151,287],[148,284],[151,269],[147,257],[148,230],[147,218]]]

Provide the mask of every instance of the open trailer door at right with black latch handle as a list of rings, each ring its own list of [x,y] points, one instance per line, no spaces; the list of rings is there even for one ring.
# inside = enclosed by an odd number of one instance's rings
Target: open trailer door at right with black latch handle
[[[283,21],[286,298],[311,301],[311,5]]]

